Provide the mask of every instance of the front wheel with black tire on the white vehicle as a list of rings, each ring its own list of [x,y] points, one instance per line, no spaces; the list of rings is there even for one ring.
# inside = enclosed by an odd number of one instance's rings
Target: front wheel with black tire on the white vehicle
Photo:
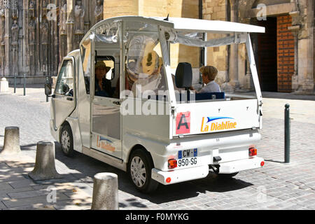
[[[73,157],[75,151],[73,150],[73,135],[71,127],[64,125],[60,132],[60,144],[62,145],[62,152],[68,157]]]

